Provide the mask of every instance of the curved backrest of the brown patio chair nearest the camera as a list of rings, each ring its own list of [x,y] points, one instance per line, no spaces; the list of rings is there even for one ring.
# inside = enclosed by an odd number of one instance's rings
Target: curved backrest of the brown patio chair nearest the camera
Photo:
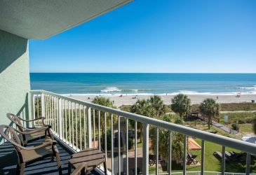
[[[20,152],[21,141],[15,129],[8,125],[0,125],[0,134],[4,139],[13,144],[16,151]]]

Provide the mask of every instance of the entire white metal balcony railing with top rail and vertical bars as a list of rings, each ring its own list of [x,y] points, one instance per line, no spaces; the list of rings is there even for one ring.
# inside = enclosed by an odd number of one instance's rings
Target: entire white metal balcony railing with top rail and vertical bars
[[[91,148],[97,146],[102,149],[101,146],[101,129],[104,127],[105,138],[104,147],[107,156],[107,120],[111,120],[111,155],[112,155],[112,174],[114,174],[114,167],[118,167],[118,173],[121,174],[121,118],[125,118],[126,122],[126,172],[129,174],[129,162],[128,162],[128,120],[135,121],[135,136],[137,136],[137,123],[142,123],[143,128],[143,141],[142,141],[142,173],[149,174],[149,125],[156,127],[156,141],[159,140],[159,129],[166,129],[169,131],[168,141],[168,174],[180,174],[171,173],[171,146],[172,146],[172,132],[178,132],[184,135],[184,151],[183,158],[187,158],[187,137],[196,137],[202,141],[201,149],[201,171],[200,172],[187,172],[186,161],[183,161],[182,174],[211,174],[212,172],[206,172],[204,170],[205,165],[205,141],[210,141],[222,146],[222,172],[213,172],[213,174],[234,174],[225,172],[225,148],[235,148],[237,150],[247,153],[246,157],[246,169],[245,174],[250,174],[250,158],[251,155],[256,155],[256,145],[250,144],[245,141],[239,141],[237,139],[231,139],[223,137],[217,134],[211,134],[209,132],[203,132],[201,130],[195,130],[190,127],[184,127],[182,125],[176,125],[168,123],[163,120],[157,120],[146,116],[140,116],[134,113],[128,113],[126,111],[120,111],[117,109],[92,104],[90,102],[83,102],[79,99],[73,99],[71,97],[65,97],[60,94],[48,92],[45,90],[32,90],[32,116],[39,117],[45,116],[46,123],[52,125],[53,134],[60,140],[64,141],[74,151],[80,151],[83,148]],[[98,120],[95,120],[95,113],[97,112]],[[101,115],[103,114],[103,115]],[[113,116],[118,118],[118,160],[114,161],[114,125]],[[103,123],[102,125],[102,119]],[[38,125],[39,123],[34,123]],[[95,128],[97,125],[97,129]],[[92,128],[93,127],[93,128]],[[123,129],[123,128],[122,128]],[[96,133],[97,130],[97,133]],[[96,139],[97,138],[97,139]],[[103,139],[102,139],[103,141]],[[97,145],[96,145],[97,142]],[[156,159],[159,158],[159,146],[156,142]],[[135,161],[134,170],[137,174],[137,137],[135,137]],[[156,160],[158,162],[158,160]],[[117,163],[117,165],[116,165]],[[158,172],[158,164],[156,164],[156,174]]]

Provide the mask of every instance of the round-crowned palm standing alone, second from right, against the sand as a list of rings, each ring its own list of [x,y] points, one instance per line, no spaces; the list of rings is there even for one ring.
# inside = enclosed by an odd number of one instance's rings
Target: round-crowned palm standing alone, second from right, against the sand
[[[191,100],[185,94],[177,94],[172,99],[171,109],[179,114],[180,118],[187,116],[191,112]]]

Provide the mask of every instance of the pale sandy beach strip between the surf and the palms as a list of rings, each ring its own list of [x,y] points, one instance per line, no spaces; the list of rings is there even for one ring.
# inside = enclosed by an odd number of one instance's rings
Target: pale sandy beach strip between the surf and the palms
[[[256,94],[242,94],[241,97],[236,97],[236,95],[213,95],[213,94],[188,94],[187,95],[191,99],[192,104],[200,104],[203,102],[203,99],[206,98],[213,98],[218,103],[241,103],[241,102],[252,102],[252,100],[255,100],[256,102]],[[86,102],[92,102],[93,98],[95,96],[89,96],[90,99],[88,99],[88,96],[72,96],[75,99],[80,99]],[[137,96],[137,99],[149,99],[149,95],[144,96]],[[171,99],[173,99],[174,95],[161,95],[161,98],[163,99],[164,104],[170,104]],[[218,97],[218,98],[217,98]],[[122,105],[133,105],[137,101],[137,99],[133,99],[133,96],[126,96],[123,97],[116,97],[116,96],[110,96],[106,97],[114,101],[114,106],[119,107]]]

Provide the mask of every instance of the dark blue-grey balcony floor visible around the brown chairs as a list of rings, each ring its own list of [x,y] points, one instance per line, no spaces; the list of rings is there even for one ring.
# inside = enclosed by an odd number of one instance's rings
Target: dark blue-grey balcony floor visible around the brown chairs
[[[28,146],[39,144],[41,141],[34,141]],[[62,174],[67,174],[67,162],[71,158],[72,152],[65,146],[58,143],[58,150],[60,152],[60,160],[62,163]],[[10,143],[0,145],[0,174],[15,174],[18,157],[15,149]],[[57,162],[50,161],[50,158],[34,162],[25,168],[25,174],[58,174]],[[93,171],[91,174],[98,174]]]

